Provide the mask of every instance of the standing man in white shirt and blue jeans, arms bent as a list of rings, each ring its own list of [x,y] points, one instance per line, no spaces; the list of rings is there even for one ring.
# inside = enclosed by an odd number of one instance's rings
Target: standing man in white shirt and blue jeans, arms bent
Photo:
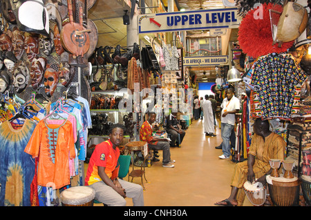
[[[240,100],[234,96],[234,88],[229,87],[227,97],[223,99],[221,110],[221,138],[223,139],[223,154],[220,159],[229,159],[231,155],[230,136],[236,122],[236,113],[240,111]]]

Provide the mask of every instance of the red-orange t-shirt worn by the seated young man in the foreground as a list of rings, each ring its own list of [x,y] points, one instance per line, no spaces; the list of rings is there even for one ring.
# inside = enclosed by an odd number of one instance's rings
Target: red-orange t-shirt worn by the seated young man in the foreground
[[[95,150],[88,163],[88,170],[86,172],[85,185],[89,186],[98,181],[102,181],[98,174],[98,166],[105,168],[105,172],[109,178],[117,176],[119,170],[117,160],[120,156],[119,148],[113,149],[113,143],[110,139],[97,144]]]

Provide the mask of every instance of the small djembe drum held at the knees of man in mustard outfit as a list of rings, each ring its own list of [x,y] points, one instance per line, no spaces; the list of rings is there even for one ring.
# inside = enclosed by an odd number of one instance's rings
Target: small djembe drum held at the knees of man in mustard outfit
[[[262,206],[267,197],[267,188],[262,183],[250,183],[246,181],[243,184],[243,190],[247,199],[253,206]]]

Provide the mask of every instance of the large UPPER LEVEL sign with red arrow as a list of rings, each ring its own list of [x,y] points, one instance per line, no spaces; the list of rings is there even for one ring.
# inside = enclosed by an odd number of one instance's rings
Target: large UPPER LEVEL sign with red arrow
[[[142,34],[211,28],[238,28],[241,20],[237,8],[142,14],[138,17],[138,32]]]

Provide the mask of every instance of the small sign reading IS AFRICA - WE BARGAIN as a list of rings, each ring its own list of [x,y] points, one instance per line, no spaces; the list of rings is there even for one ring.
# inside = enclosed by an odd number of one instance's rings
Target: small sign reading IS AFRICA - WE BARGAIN
[[[184,57],[184,66],[218,66],[228,64],[228,56]]]

